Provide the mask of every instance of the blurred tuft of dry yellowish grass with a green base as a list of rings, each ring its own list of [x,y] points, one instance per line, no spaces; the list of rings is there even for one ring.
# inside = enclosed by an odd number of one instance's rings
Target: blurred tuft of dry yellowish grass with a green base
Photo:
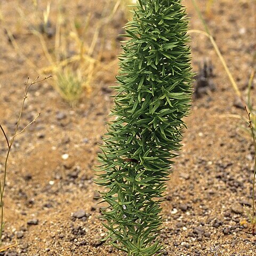
[[[62,2],[60,2],[58,19],[55,26],[55,44],[54,50],[51,51],[47,46],[44,36],[37,30],[33,33],[40,39],[45,57],[50,63],[49,67],[39,70],[41,74],[53,74],[53,87],[57,90],[60,96],[68,101],[71,105],[75,105],[77,101],[83,96],[83,92],[90,92],[90,83],[94,76],[94,68],[96,60],[91,57],[95,42],[98,39],[98,30],[92,39],[90,46],[84,44],[84,36],[79,35],[78,21],[69,21],[68,30],[65,25],[64,14],[61,11]],[[49,24],[50,3],[47,4],[47,9],[43,13],[43,28]],[[89,27],[90,15],[85,21],[85,31]],[[46,30],[46,29],[44,29]],[[80,30],[79,30],[80,31]],[[72,42],[72,43],[71,43]],[[70,45],[74,49],[69,49]],[[73,54],[70,54],[73,52]]]

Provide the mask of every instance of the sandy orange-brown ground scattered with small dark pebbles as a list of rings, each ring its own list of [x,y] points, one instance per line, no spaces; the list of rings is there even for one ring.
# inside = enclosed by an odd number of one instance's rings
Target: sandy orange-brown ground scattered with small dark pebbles
[[[0,123],[8,137],[15,129],[27,77],[43,77],[38,70],[49,66],[42,42],[31,33],[31,28],[40,30],[47,2],[38,1],[37,7],[31,0],[0,3]],[[123,33],[127,14],[122,7],[113,12],[116,1],[62,1],[61,6],[58,2],[52,1],[52,27],[42,34],[46,47],[50,52],[54,48],[61,7],[67,22],[76,19],[83,26],[90,17],[84,42],[90,45],[97,31],[91,57],[101,53],[100,64],[90,90],[76,106],[53,89],[52,78],[31,87],[21,128],[39,112],[41,116],[15,140],[5,188],[3,242],[18,244],[0,255],[125,255],[101,242],[106,230],[98,220],[101,205],[93,166],[113,105],[109,86],[115,84],[116,55],[124,39],[117,35]],[[210,13],[205,13],[205,0],[198,3],[245,95],[256,45],[253,1],[214,1]],[[184,4],[191,29],[204,29],[191,1]],[[101,22],[106,17],[110,20]],[[246,127],[245,122],[229,116],[246,117],[246,113],[209,39],[191,33],[191,50],[194,71],[205,62],[208,75],[203,82],[203,71],[197,75],[197,97],[186,118],[184,146],[167,182],[161,234],[164,255],[255,255],[256,237],[246,213],[252,207],[252,138],[239,128]],[[0,142],[3,174],[2,135]]]

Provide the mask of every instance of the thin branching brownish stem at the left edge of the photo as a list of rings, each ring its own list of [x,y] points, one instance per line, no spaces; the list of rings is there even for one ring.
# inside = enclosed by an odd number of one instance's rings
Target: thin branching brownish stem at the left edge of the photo
[[[25,91],[24,91],[24,95],[23,95],[23,101],[22,101],[22,105],[21,105],[21,109],[20,109],[20,114],[19,114],[18,121],[17,121],[16,127],[15,127],[15,131],[14,131],[14,134],[13,134],[11,140],[8,139],[3,126],[0,124],[0,130],[2,131],[2,133],[4,135],[4,138],[6,140],[6,144],[7,144],[7,153],[6,153],[5,162],[4,162],[3,179],[0,178],[0,211],[1,211],[1,213],[0,213],[0,215],[1,215],[0,245],[2,245],[2,235],[3,235],[3,229],[4,229],[4,189],[5,189],[5,183],[6,183],[7,164],[8,164],[8,159],[9,159],[9,156],[10,156],[11,148],[12,148],[12,145],[13,145],[13,142],[14,142],[15,138],[18,135],[20,135],[22,132],[24,132],[29,125],[35,123],[36,118],[40,115],[40,113],[39,113],[33,119],[33,121],[31,121],[28,125],[26,125],[22,130],[18,131],[19,126],[20,126],[20,120],[21,120],[23,108],[24,108],[24,105],[25,105],[25,101],[27,99],[27,95],[28,95],[28,91],[29,91],[30,86],[33,85],[33,84],[42,82],[42,81],[44,81],[45,79],[47,79],[49,77],[46,77],[46,78],[44,78],[42,80],[39,80],[39,81],[38,81],[38,77],[37,77],[37,79],[35,79],[35,81],[31,82],[30,84],[28,83],[29,82],[29,78],[28,78],[26,86],[25,86]],[[14,245],[4,246],[3,250],[9,249],[10,247],[12,247]],[[3,251],[3,250],[0,248],[0,251]]]

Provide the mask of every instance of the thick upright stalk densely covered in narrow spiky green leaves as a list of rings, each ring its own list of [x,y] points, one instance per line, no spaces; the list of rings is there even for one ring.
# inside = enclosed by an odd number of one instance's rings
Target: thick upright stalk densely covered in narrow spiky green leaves
[[[188,18],[180,0],[138,0],[126,25],[99,178],[106,239],[128,255],[161,255],[161,202],[191,98]]]

